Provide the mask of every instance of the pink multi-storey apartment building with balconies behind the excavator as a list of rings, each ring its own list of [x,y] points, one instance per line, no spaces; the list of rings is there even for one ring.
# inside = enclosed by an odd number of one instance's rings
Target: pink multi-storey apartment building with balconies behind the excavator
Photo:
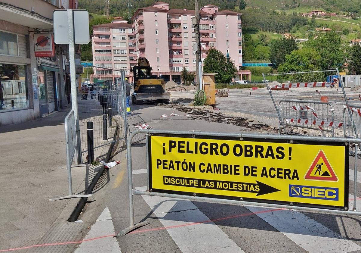
[[[242,66],[242,18],[231,10],[218,11],[216,5],[201,8],[200,36],[202,60],[214,47]],[[132,25],[125,20],[93,26],[93,64],[105,68],[122,68],[132,82],[129,69],[138,57],[147,57],[153,74],[165,81],[182,82],[183,66],[196,71],[193,51],[195,32],[192,26],[194,10],[169,9],[169,4],[156,2],[136,10]],[[107,79],[112,70],[95,68],[99,79]],[[251,78],[249,70],[239,70],[239,80]]]

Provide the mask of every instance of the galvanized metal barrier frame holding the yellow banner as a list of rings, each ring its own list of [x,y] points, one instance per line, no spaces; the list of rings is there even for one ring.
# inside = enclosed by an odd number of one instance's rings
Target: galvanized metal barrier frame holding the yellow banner
[[[137,134],[145,134],[145,136],[146,136],[146,149],[147,149],[146,150],[146,157],[147,157],[147,190],[146,191],[133,189],[132,149],[131,149],[131,145],[132,145],[132,138],[134,136],[136,136]],[[152,187],[154,187],[154,188],[156,188],[156,187],[154,185],[152,186],[152,183],[149,181],[150,180],[149,179],[150,175],[154,172],[153,169],[152,169],[152,171],[150,171],[150,168],[149,168],[150,164],[152,162],[154,162],[152,160],[152,157],[149,157],[149,156],[151,156],[151,151],[149,151],[149,149],[152,150],[151,146],[153,144],[149,143],[150,139],[148,140],[147,137],[151,137],[151,136],[161,136],[161,138],[164,138],[164,137],[165,138],[167,138],[167,137],[180,137],[179,140],[181,140],[181,141],[179,142],[179,144],[181,144],[183,146],[179,146],[177,150],[178,150],[178,152],[179,152],[179,150],[183,150],[183,152],[180,152],[180,153],[183,153],[183,154],[181,154],[181,155],[183,155],[182,157],[186,158],[187,160],[188,160],[188,157],[186,157],[185,154],[184,154],[184,153],[188,153],[188,152],[184,152],[184,150],[186,149],[186,147],[185,147],[186,142],[184,141],[184,138],[190,138],[190,139],[191,138],[198,138],[198,139],[203,138],[203,139],[212,139],[212,140],[213,140],[213,138],[214,139],[218,138],[218,140],[234,140],[234,141],[238,140],[238,141],[236,141],[236,143],[237,143],[236,145],[240,145],[238,143],[240,143],[242,141],[247,142],[249,140],[253,140],[253,141],[256,140],[256,141],[266,142],[266,143],[270,143],[270,142],[273,142],[273,143],[291,143],[289,145],[298,145],[298,144],[302,145],[302,144],[304,144],[306,142],[309,142],[309,143],[313,143],[313,144],[315,144],[315,143],[323,143],[323,145],[344,146],[345,147],[345,149],[344,149],[345,150],[345,156],[344,156],[345,161],[344,161],[344,174],[342,176],[343,176],[344,188],[345,188],[344,189],[344,196],[343,196],[345,198],[345,200],[344,200],[345,201],[344,202],[345,206],[344,207],[339,207],[338,209],[333,208],[332,206],[329,206],[328,208],[326,208],[326,207],[322,206],[322,204],[317,204],[317,201],[312,205],[312,206],[315,206],[315,207],[307,207],[307,206],[302,206],[302,205],[295,205],[296,203],[293,203],[293,202],[288,202],[289,204],[287,205],[286,203],[278,204],[277,201],[276,201],[276,203],[247,201],[247,199],[246,199],[246,201],[244,201],[243,198],[242,197],[239,198],[239,196],[238,196],[238,198],[234,198],[234,199],[226,199],[226,198],[222,198],[222,197],[214,198],[214,197],[198,196],[198,194],[196,194],[196,193],[192,194],[190,192],[183,193],[184,194],[183,195],[183,194],[176,194],[176,192],[174,192],[174,191],[173,192],[170,191],[171,193],[169,193],[169,191],[168,191],[168,193],[167,193],[166,190],[163,191],[163,190],[160,190],[159,188],[156,189],[157,192],[154,192]],[[222,139],[222,138],[224,138],[224,139]],[[221,141],[220,143],[222,143],[222,142],[223,141]],[[355,182],[355,184],[353,186],[353,200],[349,200],[349,198],[348,198],[348,191],[349,191],[349,189],[348,189],[348,180],[349,180],[348,162],[349,162],[349,160],[348,159],[349,159],[349,156],[348,156],[347,151],[348,151],[348,147],[349,147],[350,142],[353,142],[353,143],[356,144],[355,160],[354,160],[355,170],[353,172],[353,180]],[[330,143],[330,144],[328,144],[328,143]],[[199,131],[173,131],[173,130],[154,130],[154,129],[136,130],[135,132],[132,132],[130,134],[129,138],[127,139],[127,173],[128,173],[128,187],[129,187],[130,226],[125,228],[124,230],[122,230],[116,236],[121,237],[123,235],[126,235],[128,232],[138,228],[138,227],[149,224],[148,221],[144,221],[144,222],[140,222],[140,223],[135,224],[135,222],[134,222],[134,206],[133,206],[133,197],[134,197],[134,195],[171,197],[171,198],[187,199],[187,200],[191,200],[191,201],[214,202],[214,203],[225,203],[225,204],[236,204],[236,205],[255,205],[255,206],[262,206],[262,207],[282,208],[282,209],[291,209],[291,210],[300,210],[300,211],[319,211],[319,212],[330,213],[330,214],[361,215],[361,211],[357,210],[357,206],[356,206],[356,199],[357,199],[357,197],[356,197],[356,194],[357,194],[357,183],[356,183],[357,182],[357,157],[358,157],[357,146],[360,145],[360,143],[361,143],[360,138],[345,138],[345,137],[336,138],[336,137],[268,135],[268,134],[251,134],[251,133],[212,133],[212,132],[199,132]],[[160,150],[159,150],[160,152],[158,152],[158,153],[162,153],[162,151],[163,151],[163,155],[165,155],[167,151],[170,151],[170,150],[168,150],[168,148],[169,149],[171,148],[170,147],[171,146],[170,142],[169,142],[169,147],[166,147],[164,142],[163,142],[163,145],[161,144],[161,142],[156,143],[156,145],[158,145],[157,147],[160,148]],[[174,144],[174,145],[176,145],[176,144]],[[162,146],[163,146],[163,149],[161,148]],[[175,146],[173,146],[173,148],[174,147]],[[213,145],[213,147],[215,147],[215,146]],[[187,146],[187,150],[189,148],[190,147]],[[210,146],[210,149],[212,149],[212,146]],[[201,148],[199,147],[199,149],[197,149],[197,152],[200,152],[200,150],[201,150]],[[329,151],[329,152],[331,152],[331,154],[333,154],[333,152],[332,152],[333,149],[330,149],[330,150],[331,151]],[[321,151],[322,150],[320,150],[319,153]],[[224,149],[223,149],[223,152],[225,152]],[[238,149],[238,152],[240,152],[239,149]],[[195,153],[195,151],[190,151],[188,154],[193,154],[193,153]],[[225,155],[227,155],[227,154],[225,154]],[[291,154],[289,154],[289,155],[291,155]],[[301,155],[301,159],[302,159],[304,154],[302,153],[302,154],[299,154],[299,155]],[[239,155],[237,155],[237,156],[239,156]],[[317,155],[317,157],[318,157],[318,155]],[[261,157],[261,158],[264,158],[264,157]],[[315,158],[315,160],[316,160],[316,158]],[[184,159],[184,161],[186,159]],[[288,159],[290,159],[290,157]],[[324,162],[327,160],[326,157],[324,157],[323,159],[325,159]],[[338,158],[335,158],[335,159],[337,160]],[[181,160],[183,160],[183,158]],[[287,158],[286,158],[286,161],[287,161]],[[158,159],[157,159],[156,162],[158,164]],[[182,162],[182,161],[179,161],[179,162]],[[162,163],[161,160],[160,160],[160,163]],[[328,161],[327,161],[327,163],[328,163]],[[312,164],[315,164],[315,162],[313,162]],[[169,165],[169,168],[166,168],[166,169],[170,170],[170,171],[174,171],[174,167],[173,167],[173,170],[171,170],[170,163],[166,164],[166,166],[168,166],[168,165]],[[269,164],[262,163],[262,166],[268,166],[268,165]],[[161,168],[161,170],[159,170],[159,171],[163,171],[163,169],[164,169],[164,167]],[[183,169],[183,171],[185,171],[183,167],[182,167],[182,169]],[[343,171],[343,168],[338,168],[338,169],[339,169],[339,172]],[[179,170],[181,170],[181,169],[179,169]],[[208,170],[208,168],[207,168],[207,170]],[[189,171],[191,172],[191,167],[189,167]],[[177,172],[177,170],[176,170],[176,172]],[[234,174],[234,175],[236,175],[236,174]],[[186,179],[186,178],[184,178],[184,179]],[[158,179],[158,180],[164,181],[165,179],[163,178],[163,179]],[[241,177],[239,180],[237,180],[237,182],[240,182],[241,180],[244,180],[244,178]],[[165,183],[165,181],[164,181],[164,183]],[[232,182],[229,182],[229,183],[232,183]],[[294,181],[292,181],[292,183],[294,184]],[[244,183],[242,183],[242,184],[244,184]],[[322,184],[322,183],[319,183],[319,181],[312,181],[312,183],[309,183],[309,184]],[[295,185],[295,187],[296,186],[301,186],[301,185]],[[204,188],[204,186],[201,186],[201,187]],[[312,186],[307,186],[307,187],[312,187]],[[324,188],[324,189],[335,189],[335,188]],[[338,190],[340,190],[340,189],[338,189]],[[291,192],[291,188],[290,188],[290,192]],[[332,194],[330,193],[329,196],[333,197],[331,195]],[[349,201],[353,201],[353,203],[350,203]],[[282,202],[282,201],[278,201],[278,202]],[[303,201],[300,201],[300,202],[302,203]],[[305,202],[305,203],[307,203],[307,202]],[[350,210],[352,210],[352,211],[350,211]]]

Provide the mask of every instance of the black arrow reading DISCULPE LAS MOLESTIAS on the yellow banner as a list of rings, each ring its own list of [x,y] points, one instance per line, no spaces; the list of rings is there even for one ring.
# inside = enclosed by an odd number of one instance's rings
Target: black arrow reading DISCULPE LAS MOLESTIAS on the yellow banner
[[[209,179],[195,179],[188,177],[163,176],[163,184],[194,187],[194,188],[215,189],[215,190],[230,190],[235,192],[257,193],[256,196],[280,191],[279,189],[261,183],[260,181],[257,180],[256,183],[243,183],[243,182],[220,181],[220,180],[209,180]]]

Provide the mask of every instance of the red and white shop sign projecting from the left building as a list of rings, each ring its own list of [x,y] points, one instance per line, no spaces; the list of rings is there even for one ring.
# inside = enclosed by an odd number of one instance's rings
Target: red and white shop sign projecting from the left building
[[[52,57],[55,55],[51,33],[34,33],[35,57]]]

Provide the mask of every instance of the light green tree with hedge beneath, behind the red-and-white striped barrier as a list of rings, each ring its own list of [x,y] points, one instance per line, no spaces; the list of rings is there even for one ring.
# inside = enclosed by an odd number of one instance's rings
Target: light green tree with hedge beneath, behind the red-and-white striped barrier
[[[321,55],[313,48],[301,48],[292,51],[286,56],[286,60],[278,68],[278,72],[303,72],[317,70],[321,65]],[[290,74],[284,76],[292,82],[321,81],[324,77],[322,73]]]

